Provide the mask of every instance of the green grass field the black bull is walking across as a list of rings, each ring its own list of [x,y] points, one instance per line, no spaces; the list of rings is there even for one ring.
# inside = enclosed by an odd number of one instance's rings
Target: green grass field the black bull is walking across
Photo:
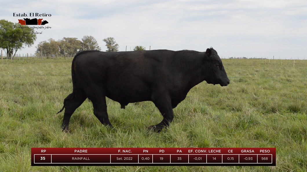
[[[307,171],[307,60],[222,59],[230,84],[202,82],[166,132],[152,102],[107,99],[115,129],[86,100],[61,131],[72,59],[0,61],[0,171]],[[276,166],[31,166],[31,148],[276,148]]]

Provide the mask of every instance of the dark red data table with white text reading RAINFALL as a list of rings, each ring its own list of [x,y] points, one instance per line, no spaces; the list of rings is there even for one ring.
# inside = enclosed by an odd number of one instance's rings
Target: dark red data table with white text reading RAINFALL
[[[31,148],[32,166],[276,166],[276,148]]]

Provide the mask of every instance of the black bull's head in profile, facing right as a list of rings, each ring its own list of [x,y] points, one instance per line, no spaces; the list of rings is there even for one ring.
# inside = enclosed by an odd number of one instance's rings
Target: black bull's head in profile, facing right
[[[210,49],[208,48],[205,56],[204,80],[207,81],[208,84],[227,86],[229,84],[229,79],[222,64],[222,60],[219,55],[217,55],[216,50],[212,47]]]

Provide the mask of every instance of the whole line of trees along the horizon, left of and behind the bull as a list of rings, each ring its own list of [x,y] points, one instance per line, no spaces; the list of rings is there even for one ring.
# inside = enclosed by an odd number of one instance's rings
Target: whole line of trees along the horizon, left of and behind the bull
[[[12,23],[6,20],[0,20],[0,48],[6,51],[7,58],[11,59],[15,57],[17,50],[25,47],[31,47],[37,36],[31,33],[34,29],[29,28],[19,23]],[[93,36],[83,36],[81,39],[66,38],[60,40],[48,39],[37,44],[37,54],[60,54],[62,56],[74,55],[83,50],[101,50],[97,40]],[[116,43],[113,37],[103,39],[106,43],[107,52],[118,51],[119,45]],[[146,47],[136,46],[133,49],[146,50]]]

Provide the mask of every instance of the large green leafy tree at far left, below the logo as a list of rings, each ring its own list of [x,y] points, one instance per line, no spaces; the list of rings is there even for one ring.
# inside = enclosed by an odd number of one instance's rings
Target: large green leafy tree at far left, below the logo
[[[28,26],[0,20],[0,48],[6,49],[7,58],[14,58],[17,50],[34,44],[36,35],[31,34],[33,31]]]

